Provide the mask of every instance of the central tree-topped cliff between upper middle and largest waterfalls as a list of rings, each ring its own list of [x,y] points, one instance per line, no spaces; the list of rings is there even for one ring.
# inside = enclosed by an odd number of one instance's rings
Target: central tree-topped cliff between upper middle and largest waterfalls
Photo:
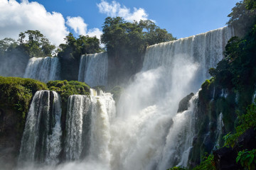
[[[107,47],[110,62],[114,63],[109,69],[109,75],[112,75],[108,78],[112,83],[110,86],[129,79],[142,67],[142,55],[147,45],[176,40],[149,20],[129,23],[121,17],[107,17],[102,28],[101,41]]]

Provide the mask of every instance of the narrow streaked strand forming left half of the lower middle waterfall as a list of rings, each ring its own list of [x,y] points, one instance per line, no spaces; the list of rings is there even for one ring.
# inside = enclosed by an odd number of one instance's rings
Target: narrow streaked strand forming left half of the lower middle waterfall
[[[65,159],[77,160],[89,148],[90,97],[73,95],[68,98],[66,117]]]

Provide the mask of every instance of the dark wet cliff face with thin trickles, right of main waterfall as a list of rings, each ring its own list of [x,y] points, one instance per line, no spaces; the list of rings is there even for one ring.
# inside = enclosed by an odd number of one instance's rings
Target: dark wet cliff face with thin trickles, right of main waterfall
[[[205,153],[223,147],[223,136],[235,132],[238,115],[245,113],[252,103],[254,86],[244,91],[224,88],[215,79],[206,80],[199,91],[196,114],[196,136],[193,139],[188,166],[194,167],[203,161]]]

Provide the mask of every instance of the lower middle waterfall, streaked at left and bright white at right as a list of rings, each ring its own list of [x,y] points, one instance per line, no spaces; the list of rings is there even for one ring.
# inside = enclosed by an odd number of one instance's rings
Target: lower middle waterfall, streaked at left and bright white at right
[[[67,160],[95,160],[110,166],[110,121],[115,106],[111,94],[91,89],[90,96],[73,95],[68,99],[65,157]]]

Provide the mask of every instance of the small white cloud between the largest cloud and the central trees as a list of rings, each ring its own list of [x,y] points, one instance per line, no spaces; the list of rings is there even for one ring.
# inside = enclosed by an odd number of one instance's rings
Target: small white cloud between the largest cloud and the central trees
[[[66,24],[72,28],[75,33],[78,35],[89,35],[89,36],[96,36],[100,39],[100,35],[102,34],[102,31],[99,28],[92,28],[90,30],[87,30],[87,24],[81,18],[80,16],[77,17],[67,17]]]

